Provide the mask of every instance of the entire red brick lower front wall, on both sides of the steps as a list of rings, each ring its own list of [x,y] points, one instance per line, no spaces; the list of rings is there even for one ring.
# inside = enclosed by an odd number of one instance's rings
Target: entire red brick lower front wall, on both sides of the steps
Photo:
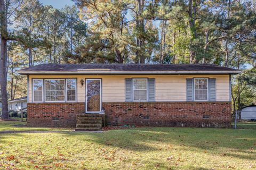
[[[108,125],[228,128],[230,102],[102,103]],[[73,127],[85,103],[28,103],[28,126]]]

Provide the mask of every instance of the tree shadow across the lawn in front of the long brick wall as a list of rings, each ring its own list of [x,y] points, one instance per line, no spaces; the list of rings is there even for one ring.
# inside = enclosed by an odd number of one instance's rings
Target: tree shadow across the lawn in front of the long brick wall
[[[99,145],[119,147],[134,151],[159,150],[163,145],[181,146],[183,150],[195,152],[220,152],[242,159],[255,159],[255,130],[213,129],[213,128],[137,128],[111,130],[103,133],[65,133],[79,140]],[[90,138],[88,138],[90,136]],[[184,146],[184,147],[182,147]],[[199,150],[198,150],[199,149]],[[239,154],[231,154],[235,151]],[[243,154],[249,154],[244,156]]]

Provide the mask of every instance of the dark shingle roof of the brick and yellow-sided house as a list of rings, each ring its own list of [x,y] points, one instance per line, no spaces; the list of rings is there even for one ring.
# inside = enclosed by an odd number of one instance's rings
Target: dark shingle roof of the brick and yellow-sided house
[[[40,64],[19,71],[20,74],[32,72],[232,72],[238,71],[213,64]],[[29,73],[30,72],[30,73]],[[35,74],[35,73],[34,73]]]

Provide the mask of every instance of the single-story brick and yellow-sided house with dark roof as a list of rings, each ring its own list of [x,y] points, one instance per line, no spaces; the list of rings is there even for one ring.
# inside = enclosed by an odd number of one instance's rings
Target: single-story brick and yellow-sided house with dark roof
[[[230,127],[230,78],[240,72],[212,64],[41,64],[18,71],[28,79],[28,126],[81,130],[99,127],[92,124],[105,116],[108,125]]]

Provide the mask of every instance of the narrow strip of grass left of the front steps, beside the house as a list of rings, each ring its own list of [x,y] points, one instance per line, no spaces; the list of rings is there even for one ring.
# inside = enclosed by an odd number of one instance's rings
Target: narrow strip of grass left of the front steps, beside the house
[[[71,128],[30,128],[25,125],[26,122],[20,121],[0,121],[0,131],[71,131]]]

